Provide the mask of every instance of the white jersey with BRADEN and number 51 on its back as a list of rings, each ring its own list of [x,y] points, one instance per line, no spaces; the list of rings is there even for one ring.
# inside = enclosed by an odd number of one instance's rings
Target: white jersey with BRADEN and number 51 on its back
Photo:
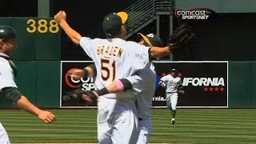
[[[115,79],[126,78],[137,70],[150,67],[149,48],[121,38],[90,39],[83,37],[80,46],[94,60],[97,69],[95,85],[109,86]],[[106,98],[134,98],[127,90],[121,94],[105,94]]]

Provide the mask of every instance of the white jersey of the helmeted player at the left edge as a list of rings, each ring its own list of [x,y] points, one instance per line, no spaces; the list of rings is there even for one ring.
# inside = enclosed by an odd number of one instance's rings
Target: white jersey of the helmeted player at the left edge
[[[6,55],[6,54],[2,54]],[[6,55],[7,56],[7,55]],[[5,87],[17,87],[14,82],[14,70],[10,67],[9,62],[0,57],[0,91]]]

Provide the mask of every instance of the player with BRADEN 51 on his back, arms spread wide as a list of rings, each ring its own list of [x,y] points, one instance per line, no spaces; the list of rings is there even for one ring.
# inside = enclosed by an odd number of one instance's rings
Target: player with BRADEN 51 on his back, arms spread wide
[[[94,60],[97,70],[95,85],[98,93],[104,94],[98,98],[98,142],[134,143],[138,136],[134,92],[127,90],[122,94],[105,94],[105,87],[149,67],[151,56],[170,54],[170,47],[150,48],[125,41],[125,22],[128,18],[125,12],[108,14],[104,18],[102,27],[107,39],[82,37],[67,24],[64,11],[59,11],[54,18],[71,40],[82,46]]]

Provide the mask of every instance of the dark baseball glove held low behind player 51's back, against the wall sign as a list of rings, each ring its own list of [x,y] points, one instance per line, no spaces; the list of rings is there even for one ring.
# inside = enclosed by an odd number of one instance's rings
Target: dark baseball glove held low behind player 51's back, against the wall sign
[[[97,96],[92,91],[75,89],[71,90],[62,97],[62,102],[97,102]]]

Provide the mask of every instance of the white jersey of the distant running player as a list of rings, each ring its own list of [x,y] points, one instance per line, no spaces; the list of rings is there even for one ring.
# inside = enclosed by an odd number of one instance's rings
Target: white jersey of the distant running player
[[[182,79],[179,77],[174,78],[170,74],[162,77],[160,81],[166,84],[166,93],[177,93],[178,86],[182,86]]]

